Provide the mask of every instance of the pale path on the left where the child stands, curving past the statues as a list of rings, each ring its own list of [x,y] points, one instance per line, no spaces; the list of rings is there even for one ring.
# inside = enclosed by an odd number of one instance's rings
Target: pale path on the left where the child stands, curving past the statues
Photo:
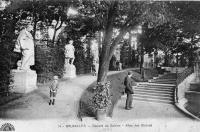
[[[0,117],[7,119],[54,119],[77,117],[78,101],[89,84],[96,80],[92,75],[80,75],[71,80],[61,80],[56,104],[49,106],[48,84],[22,98],[0,107]]]

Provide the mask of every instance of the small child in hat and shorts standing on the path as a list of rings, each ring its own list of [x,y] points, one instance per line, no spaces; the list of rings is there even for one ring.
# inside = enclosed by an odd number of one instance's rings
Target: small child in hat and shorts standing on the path
[[[55,98],[58,90],[58,76],[53,77],[53,81],[49,87],[50,89],[50,101],[49,105],[54,105],[55,104]]]

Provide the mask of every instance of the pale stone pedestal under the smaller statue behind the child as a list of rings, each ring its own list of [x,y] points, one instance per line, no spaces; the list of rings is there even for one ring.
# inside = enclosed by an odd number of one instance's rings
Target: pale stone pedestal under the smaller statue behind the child
[[[72,79],[75,77],[76,77],[76,67],[72,64],[66,64],[63,78]]]

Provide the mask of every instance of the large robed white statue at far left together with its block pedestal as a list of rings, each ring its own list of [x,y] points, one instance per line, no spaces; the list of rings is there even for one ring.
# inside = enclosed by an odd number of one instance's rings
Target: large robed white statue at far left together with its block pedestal
[[[11,70],[13,89],[15,93],[29,93],[37,89],[37,74],[30,66],[35,64],[34,41],[31,31],[33,26],[27,25],[23,29],[15,44],[14,52],[22,54],[17,62],[17,69]]]

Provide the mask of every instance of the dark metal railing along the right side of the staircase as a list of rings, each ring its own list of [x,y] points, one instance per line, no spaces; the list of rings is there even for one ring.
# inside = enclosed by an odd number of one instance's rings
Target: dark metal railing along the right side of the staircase
[[[187,78],[189,75],[191,75],[194,72],[193,67],[186,68],[183,72],[178,73],[178,70],[176,70],[176,87],[175,87],[175,103],[178,102],[178,85],[184,81],[185,78]]]

